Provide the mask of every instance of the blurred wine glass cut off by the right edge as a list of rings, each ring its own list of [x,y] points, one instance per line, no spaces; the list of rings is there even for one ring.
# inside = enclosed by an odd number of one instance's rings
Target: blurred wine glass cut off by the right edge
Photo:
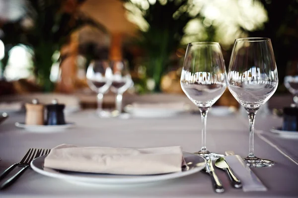
[[[289,62],[284,79],[285,87],[294,95],[294,102],[298,107],[298,61]]]

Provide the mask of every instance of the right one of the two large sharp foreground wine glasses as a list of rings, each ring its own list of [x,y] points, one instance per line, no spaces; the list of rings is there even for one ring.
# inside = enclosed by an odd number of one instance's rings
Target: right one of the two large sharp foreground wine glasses
[[[273,161],[254,154],[254,120],[258,109],[278,86],[277,68],[268,38],[236,39],[228,68],[228,89],[245,108],[249,118],[249,154],[244,161],[252,167],[268,167]]]

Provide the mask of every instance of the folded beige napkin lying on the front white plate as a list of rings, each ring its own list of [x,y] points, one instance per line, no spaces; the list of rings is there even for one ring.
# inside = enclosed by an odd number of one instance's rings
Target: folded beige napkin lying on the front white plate
[[[108,148],[60,145],[45,158],[44,166],[59,170],[149,175],[181,171],[182,148]]]

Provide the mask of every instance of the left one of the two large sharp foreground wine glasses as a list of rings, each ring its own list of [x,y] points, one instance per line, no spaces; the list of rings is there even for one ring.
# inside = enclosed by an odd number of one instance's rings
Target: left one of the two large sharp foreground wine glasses
[[[202,118],[202,148],[195,152],[206,159],[215,160],[224,155],[206,148],[206,119],[209,108],[223,95],[226,89],[224,58],[219,43],[189,43],[186,49],[181,88],[196,104]]]

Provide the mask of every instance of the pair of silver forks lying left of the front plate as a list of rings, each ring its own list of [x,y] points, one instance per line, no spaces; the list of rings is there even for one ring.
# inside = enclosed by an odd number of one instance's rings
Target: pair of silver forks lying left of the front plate
[[[33,159],[42,155],[49,154],[50,151],[51,149],[30,148],[19,163],[12,164],[10,167],[8,167],[1,173],[0,180],[3,179],[8,173],[10,173],[15,167],[22,167],[22,169],[18,171],[14,176],[10,177],[0,185],[0,190],[5,189],[9,187],[11,184],[13,184],[24,173],[24,171],[30,167],[30,163]]]

